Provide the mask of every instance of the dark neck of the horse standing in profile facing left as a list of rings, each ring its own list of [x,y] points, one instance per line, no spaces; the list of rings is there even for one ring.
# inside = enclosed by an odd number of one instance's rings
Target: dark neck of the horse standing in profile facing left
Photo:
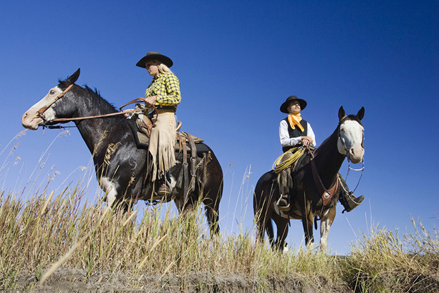
[[[84,92],[86,91],[84,90]],[[108,104],[102,97],[97,95],[92,96],[90,93],[77,97],[76,101],[78,101],[78,117],[105,115],[116,112],[115,108]],[[88,150],[90,150],[92,154],[99,143],[102,143],[106,137],[111,136],[108,131],[112,129],[110,126],[114,124],[115,119],[118,118],[119,117],[115,116],[75,120],[75,125],[78,127],[82,139],[84,139]]]

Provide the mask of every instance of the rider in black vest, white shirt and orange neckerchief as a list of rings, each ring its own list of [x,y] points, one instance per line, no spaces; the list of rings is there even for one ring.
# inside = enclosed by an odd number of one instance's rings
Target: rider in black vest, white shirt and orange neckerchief
[[[284,153],[297,145],[316,146],[316,136],[311,125],[302,119],[300,115],[300,111],[305,109],[306,106],[307,102],[304,99],[299,99],[295,95],[287,97],[285,102],[281,105],[281,112],[288,114],[288,117],[283,119],[279,124],[279,139],[281,140]],[[347,188],[342,176],[340,176],[340,180],[342,180],[343,185]],[[340,202],[346,211],[352,211],[355,207],[358,207],[363,200],[364,196],[356,198],[351,192],[348,193],[344,189],[342,189],[340,193]],[[279,207],[287,207],[288,196],[283,195],[278,201],[278,205]]]

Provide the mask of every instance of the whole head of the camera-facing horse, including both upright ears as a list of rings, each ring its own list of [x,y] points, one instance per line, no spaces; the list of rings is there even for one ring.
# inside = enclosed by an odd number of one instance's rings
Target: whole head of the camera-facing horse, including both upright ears
[[[364,107],[361,107],[357,115],[346,115],[343,106],[338,110],[340,121],[337,149],[355,164],[363,161],[364,156],[364,126],[361,123],[363,117]]]

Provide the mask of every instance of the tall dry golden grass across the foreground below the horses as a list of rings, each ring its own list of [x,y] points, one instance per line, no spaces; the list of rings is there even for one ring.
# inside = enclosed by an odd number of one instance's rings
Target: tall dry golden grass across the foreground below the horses
[[[124,272],[132,288],[144,275],[184,280],[201,272],[239,274],[259,291],[268,290],[269,279],[296,278],[323,279],[353,292],[439,292],[438,233],[420,221],[402,236],[375,226],[346,257],[303,248],[279,253],[255,241],[254,227],[209,237],[199,208],[182,216],[161,205],[121,213],[88,202],[84,178],[52,190],[51,180],[43,177],[28,194],[0,189],[0,290],[17,288],[23,274],[44,283],[58,268],[73,268],[88,276],[105,272],[107,279]]]

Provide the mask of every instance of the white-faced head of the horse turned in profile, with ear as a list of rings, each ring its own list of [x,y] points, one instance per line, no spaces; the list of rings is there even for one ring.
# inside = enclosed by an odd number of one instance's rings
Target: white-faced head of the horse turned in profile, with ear
[[[40,99],[23,114],[21,124],[31,130],[37,130],[38,126],[53,124],[51,121],[59,117],[56,111],[56,106],[60,104],[59,100],[62,96],[70,94],[68,91],[79,76],[80,69],[69,76],[67,80],[60,82],[58,86],[49,89],[49,93],[43,99]],[[63,110],[66,110],[65,107]]]

